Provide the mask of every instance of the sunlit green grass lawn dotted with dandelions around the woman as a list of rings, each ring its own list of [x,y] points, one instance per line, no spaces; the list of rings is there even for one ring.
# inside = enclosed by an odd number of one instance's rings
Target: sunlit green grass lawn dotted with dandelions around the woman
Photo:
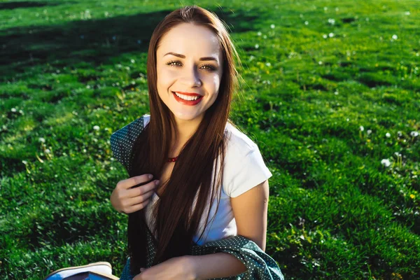
[[[419,279],[418,1],[182,3],[231,28],[246,81],[231,118],[274,174],[266,251],[286,279]],[[148,113],[148,40],[179,6],[0,3],[2,279],[95,261],[120,275],[127,218],[109,196],[127,174],[109,137]]]

